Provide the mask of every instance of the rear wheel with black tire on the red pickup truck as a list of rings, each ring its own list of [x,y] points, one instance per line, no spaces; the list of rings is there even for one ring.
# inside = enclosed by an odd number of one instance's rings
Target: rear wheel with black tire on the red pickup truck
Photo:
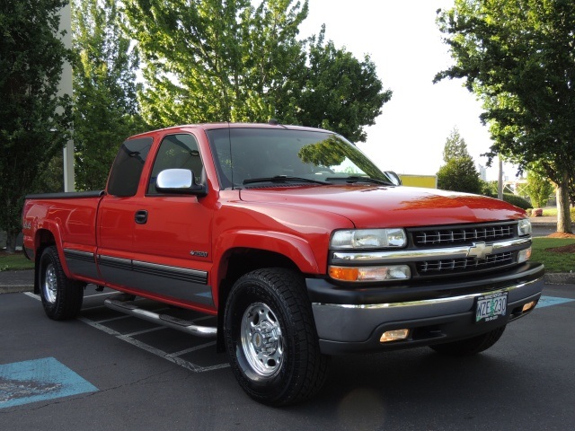
[[[56,246],[42,251],[38,268],[44,311],[54,321],[73,319],[82,308],[84,283],[66,277]]]

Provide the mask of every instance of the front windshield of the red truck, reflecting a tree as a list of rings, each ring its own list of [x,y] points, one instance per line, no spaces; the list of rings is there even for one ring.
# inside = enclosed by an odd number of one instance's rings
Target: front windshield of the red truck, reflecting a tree
[[[323,131],[285,128],[208,130],[222,186],[258,182],[391,181],[355,145]]]

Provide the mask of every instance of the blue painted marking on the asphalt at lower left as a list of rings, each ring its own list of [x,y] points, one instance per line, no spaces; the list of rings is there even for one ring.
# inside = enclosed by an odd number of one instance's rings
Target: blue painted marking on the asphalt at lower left
[[[98,391],[53,357],[0,365],[0,409]]]

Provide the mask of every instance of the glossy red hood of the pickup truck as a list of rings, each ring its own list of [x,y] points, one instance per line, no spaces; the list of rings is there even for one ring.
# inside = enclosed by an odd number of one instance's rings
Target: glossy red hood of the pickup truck
[[[243,189],[244,202],[329,211],[357,228],[482,223],[524,218],[525,212],[499,199],[414,187],[365,184]]]

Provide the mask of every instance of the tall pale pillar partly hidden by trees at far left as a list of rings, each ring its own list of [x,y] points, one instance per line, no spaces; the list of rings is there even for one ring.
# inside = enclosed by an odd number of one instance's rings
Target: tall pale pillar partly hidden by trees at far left
[[[60,13],[60,30],[66,31],[62,36],[62,41],[66,48],[72,48],[72,9],[70,4],[66,4]],[[67,61],[62,68],[62,79],[58,95],[69,94],[72,96],[72,65]],[[74,176],[74,141],[69,140],[64,147],[64,191],[75,190]]]

